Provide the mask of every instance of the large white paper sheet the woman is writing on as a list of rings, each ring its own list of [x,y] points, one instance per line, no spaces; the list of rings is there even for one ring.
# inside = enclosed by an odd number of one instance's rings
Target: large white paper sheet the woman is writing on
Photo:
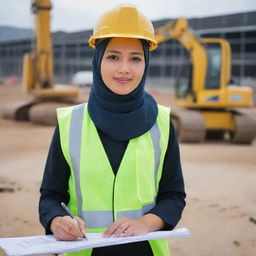
[[[103,238],[101,233],[87,233],[88,240],[83,238],[76,241],[57,241],[53,235],[27,236],[0,238],[0,248],[2,248],[8,256],[29,256],[74,252],[88,248],[126,244],[161,238],[185,237],[189,235],[190,232],[188,229],[179,228],[172,231],[151,232],[144,236],[120,238]]]

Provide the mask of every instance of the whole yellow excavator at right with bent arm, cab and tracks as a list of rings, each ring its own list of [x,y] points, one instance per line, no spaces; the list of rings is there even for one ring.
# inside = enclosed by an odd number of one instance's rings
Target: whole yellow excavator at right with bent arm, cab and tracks
[[[256,124],[239,108],[253,106],[250,87],[230,84],[231,49],[225,39],[196,36],[186,19],[180,18],[156,30],[161,43],[176,39],[189,52],[176,81],[172,118],[182,142],[206,138],[250,144]]]

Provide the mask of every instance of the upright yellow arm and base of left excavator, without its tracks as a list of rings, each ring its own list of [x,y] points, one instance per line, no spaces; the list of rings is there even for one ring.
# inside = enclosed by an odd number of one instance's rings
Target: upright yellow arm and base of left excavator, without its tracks
[[[23,58],[23,89],[40,100],[72,100],[78,96],[77,89],[57,88],[53,83],[51,0],[32,0],[31,7],[35,15],[35,49]]]

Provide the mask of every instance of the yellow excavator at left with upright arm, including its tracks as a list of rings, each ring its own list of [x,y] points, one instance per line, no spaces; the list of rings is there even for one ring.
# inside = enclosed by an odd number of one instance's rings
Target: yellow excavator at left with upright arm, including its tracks
[[[50,31],[50,0],[33,0],[35,15],[35,49],[23,57],[23,90],[32,94],[31,101],[8,105],[4,116],[14,120],[31,120],[36,123],[52,124],[55,109],[72,103],[78,97],[76,88],[53,83],[53,54]],[[47,104],[43,104],[43,103]]]

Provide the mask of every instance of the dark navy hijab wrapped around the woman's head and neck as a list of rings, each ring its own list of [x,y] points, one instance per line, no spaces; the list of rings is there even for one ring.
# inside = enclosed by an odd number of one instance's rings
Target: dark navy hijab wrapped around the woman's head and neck
[[[154,125],[157,104],[144,90],[149,63],[148,43],[141,40],[145,55],[143,77],[132,92],[118,95],[103,82],[101,60],[110,39],[101,41],[93,56],[93,86],[88,101],[89,115],[95,126],[114,140],[125,141],[136,138]]]

